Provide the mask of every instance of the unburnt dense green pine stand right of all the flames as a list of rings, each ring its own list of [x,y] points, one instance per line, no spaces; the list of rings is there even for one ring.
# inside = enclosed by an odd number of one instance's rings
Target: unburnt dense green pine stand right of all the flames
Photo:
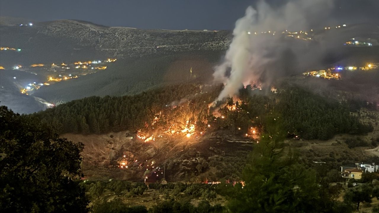
[[[338,133],[364,134],[372,125],[364,125],[350,115],[347,105],[300,88],[280,93],[276,110],[282,115],[283,128],[305,139],[326,140]]]

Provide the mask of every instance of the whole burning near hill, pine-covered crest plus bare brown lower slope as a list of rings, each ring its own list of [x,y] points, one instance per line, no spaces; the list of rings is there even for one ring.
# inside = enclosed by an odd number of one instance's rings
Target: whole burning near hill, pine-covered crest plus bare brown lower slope
[[[83,142],[83,169],[91,179],[237,178],[247,153],[264,132],[283,134],[289,146],[304,147],[307,162],[329,159],[331,146],[351,157],[329,163],[376,156],[359,156],[353,150],[377,146],[376,111],[351,115],[346,103],[291,86],[283,86],[277,94],[243,89],[238,100],[209,108],[220,89],[170,85],[136,96],[75,100],[28,117]]]

